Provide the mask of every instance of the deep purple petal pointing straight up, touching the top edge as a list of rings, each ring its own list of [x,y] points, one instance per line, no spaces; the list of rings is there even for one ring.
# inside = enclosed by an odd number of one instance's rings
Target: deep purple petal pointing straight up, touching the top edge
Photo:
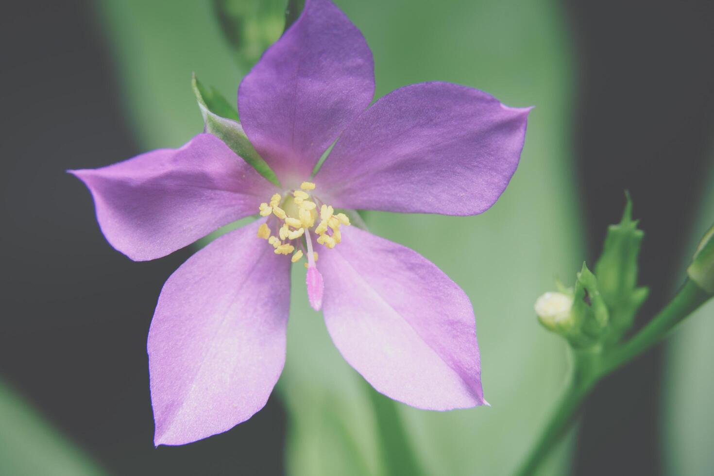
[[[374,94],[372,53],[328,0],[300,18],[238,88],[243,128],[283,186],[306,180],[328,146]]]

